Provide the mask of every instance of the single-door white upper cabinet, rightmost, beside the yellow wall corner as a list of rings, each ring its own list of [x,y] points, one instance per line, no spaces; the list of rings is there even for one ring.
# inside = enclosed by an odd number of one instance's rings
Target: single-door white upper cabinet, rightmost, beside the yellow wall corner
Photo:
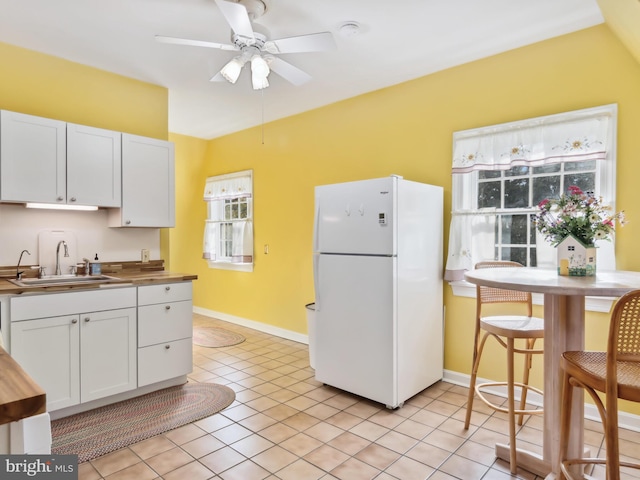
[[[174,146],[122,134],[122,208],[110,226],[175,226]]]

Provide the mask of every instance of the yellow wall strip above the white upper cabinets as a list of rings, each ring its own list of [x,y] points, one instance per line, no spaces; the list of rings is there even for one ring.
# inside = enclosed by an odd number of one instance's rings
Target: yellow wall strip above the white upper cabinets
[[[0,43],[0,108],[167,139],[167,89]]]

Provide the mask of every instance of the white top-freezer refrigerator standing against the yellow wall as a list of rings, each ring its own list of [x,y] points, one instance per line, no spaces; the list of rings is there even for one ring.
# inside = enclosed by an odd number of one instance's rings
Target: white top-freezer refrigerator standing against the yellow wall
[[[442,216],[398,176],[315,188],[316,380],[397,408],[442,379]]]

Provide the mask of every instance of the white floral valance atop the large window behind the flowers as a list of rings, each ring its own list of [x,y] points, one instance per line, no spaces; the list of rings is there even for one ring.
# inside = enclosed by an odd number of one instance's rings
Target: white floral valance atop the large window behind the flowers
[[[455,132],[452,173],[508,170],[519,165],[604,160],[611,107],[579,110]]]

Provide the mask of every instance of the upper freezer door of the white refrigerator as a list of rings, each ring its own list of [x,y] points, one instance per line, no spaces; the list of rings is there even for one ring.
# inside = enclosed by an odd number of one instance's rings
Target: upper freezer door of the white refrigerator
[[[397,178],[377,178],[315,189],[314,251],[393,255]]]

